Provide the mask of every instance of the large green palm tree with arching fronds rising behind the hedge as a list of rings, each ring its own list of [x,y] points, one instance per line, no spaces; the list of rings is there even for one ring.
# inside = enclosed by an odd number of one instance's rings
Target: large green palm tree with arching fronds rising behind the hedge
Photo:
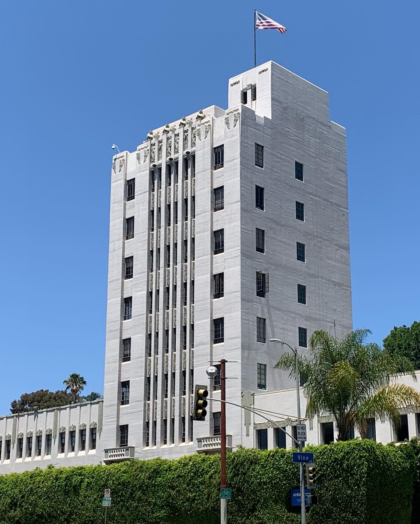
[[[381,350],[378,344],[366,344],[370,333],[367,329],[352,331],[339,341],[326,331],[314,331],[309,343],[312,358],[298,358],[308,399],[306,416],[333,415],[338,440],[348,440],[353,427],[366,438],[367,421],[374,417],[388,418],[398,430],[400,408],[420,406],[418,391],[393,382],[402,370],[415,379],[413,364]],[[275,367],[289,370],[289,377],[296,378],[294,354],[283,354]]]

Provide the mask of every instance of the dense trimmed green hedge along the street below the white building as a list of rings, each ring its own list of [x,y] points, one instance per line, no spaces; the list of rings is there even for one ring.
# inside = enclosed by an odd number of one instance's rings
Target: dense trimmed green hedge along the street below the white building
[[[418,444],[417,444],[418,446]],[[420,446],[355,440],[308,447],[315,453],[319,505],[308,524],[409,524]],[[111,488],[108,524],[216,524],[218,455],[47,468],[0,476],[0,524],[96,524]],[[228,454],[229,524],[298,524],[290,489],[299,469],[289,450]]]

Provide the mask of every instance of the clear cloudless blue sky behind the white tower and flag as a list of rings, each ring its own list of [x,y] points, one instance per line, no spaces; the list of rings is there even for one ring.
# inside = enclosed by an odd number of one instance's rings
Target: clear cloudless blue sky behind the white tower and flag
[[[0,34],[0,413],[81,373],[103,391],[112,151],[274,60],[330,93],[347,128],[355,327],[419,320],[420,4],[8,2]]]

